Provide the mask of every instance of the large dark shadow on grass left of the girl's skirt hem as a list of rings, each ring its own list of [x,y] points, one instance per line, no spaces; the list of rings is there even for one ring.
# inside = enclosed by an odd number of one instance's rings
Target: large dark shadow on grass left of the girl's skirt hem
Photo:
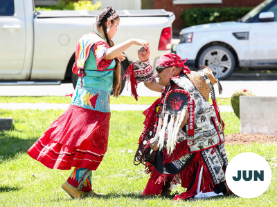
[[[32,139],[21,139],[8,132],[0,132],[0,164],[2,161],[12,159],[20,153],[25,153],[39,137]]]

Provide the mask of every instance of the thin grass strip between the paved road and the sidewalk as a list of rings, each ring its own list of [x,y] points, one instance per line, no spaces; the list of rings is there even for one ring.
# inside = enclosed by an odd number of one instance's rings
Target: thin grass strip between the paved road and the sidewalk
[[[159,97],[139,97],[136,101],[134,97],[119,96],[115,98],[110,97],[111,104],[152,104]],[[71,97],[0,97],[0,103],[70,103]],[[211,102],[211,99],[209,101]],[[230,98],[218,98],[218,105],[231,106]]]

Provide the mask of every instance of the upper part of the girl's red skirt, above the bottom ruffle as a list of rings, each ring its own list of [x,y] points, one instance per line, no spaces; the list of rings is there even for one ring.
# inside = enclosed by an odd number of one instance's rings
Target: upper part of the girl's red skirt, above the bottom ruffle
[[[96,148],[107,150],[110,116],[110,112],[70,105],[44,134],[67,146],[79,146],[84,139],[89,139]]]

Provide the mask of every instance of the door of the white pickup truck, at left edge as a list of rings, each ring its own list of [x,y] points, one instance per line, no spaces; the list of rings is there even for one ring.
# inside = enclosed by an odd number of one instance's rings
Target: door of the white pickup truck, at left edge
[[[14,1],[0,0],[0,75],[19,74],[24,66],[24,3],[23,0],[18,0],[15,5]]]

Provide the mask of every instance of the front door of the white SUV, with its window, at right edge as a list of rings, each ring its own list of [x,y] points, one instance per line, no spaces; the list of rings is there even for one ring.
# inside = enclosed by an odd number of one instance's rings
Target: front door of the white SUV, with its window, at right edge
[[[274,21],[260,22],[259,14],[251,23],[249,48],[251,66],[277,67],[277,1],[261,12],[274,12]]]

